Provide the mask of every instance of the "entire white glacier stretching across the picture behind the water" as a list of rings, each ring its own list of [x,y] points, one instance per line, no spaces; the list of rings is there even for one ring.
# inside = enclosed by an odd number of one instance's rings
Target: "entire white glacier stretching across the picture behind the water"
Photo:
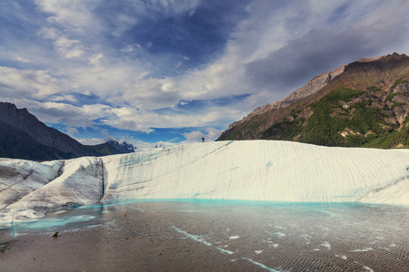
[[[409,150],[214,141],[72,160],[0,159],[0,224],[126,199],[409,205]]]

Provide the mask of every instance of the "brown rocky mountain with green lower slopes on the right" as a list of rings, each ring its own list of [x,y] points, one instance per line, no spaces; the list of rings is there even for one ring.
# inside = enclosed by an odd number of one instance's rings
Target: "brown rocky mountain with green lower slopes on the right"
[[[409,148],[409,57],[389,54],[314,77],[235,121],[217,139]]]

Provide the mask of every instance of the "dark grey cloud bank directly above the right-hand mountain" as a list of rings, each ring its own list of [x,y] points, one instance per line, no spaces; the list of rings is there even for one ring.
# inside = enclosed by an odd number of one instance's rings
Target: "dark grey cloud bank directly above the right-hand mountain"
[[[260,87],[294,89],[308,82],[312,74],[328,72],[328,68],[393,53],[396,45],[402,49],[399,44],[408,42],[402,34],[408,30],[405,13],[409,4],[401,2],[403,8],[399,10],[384,2],[377,4],[376,9],[365,5],[366,13],[363,7],[355,9],[347,3],[337,7],[327,13],[326,21],[332,27],[310,29],[266,57],[247,63],[247,76]],[[287,24],[291,31],[303,22]]]

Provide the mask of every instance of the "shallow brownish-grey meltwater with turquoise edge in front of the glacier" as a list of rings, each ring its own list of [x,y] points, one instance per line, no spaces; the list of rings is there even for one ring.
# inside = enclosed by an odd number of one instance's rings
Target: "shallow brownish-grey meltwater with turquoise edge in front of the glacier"
[[[408,215],[407,208],[359,205],[73,209],[46,217],[66,224],[0,230],[0,245],[7,243],[0,270],[408,271]],[[75,217],[84,220],[70,222]]]

